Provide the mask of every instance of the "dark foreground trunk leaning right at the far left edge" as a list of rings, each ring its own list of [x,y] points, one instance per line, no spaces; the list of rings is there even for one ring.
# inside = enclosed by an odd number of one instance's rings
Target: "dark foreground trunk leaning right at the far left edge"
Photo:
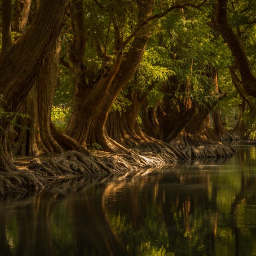
[[[67,4],[67,0],[45,0],[26,35],[13,45],[8,54],[1,55],[0,94],[3,95],[4,101],[0,102],[0,107],[5,111],[13,113],[19,110],[34,84],[43,60],[57,40]],[[9,130],[9,118],[2,117],[0,124],[0,171],[15,171],[17,168],[12,163],[8,150],[6,131]]]

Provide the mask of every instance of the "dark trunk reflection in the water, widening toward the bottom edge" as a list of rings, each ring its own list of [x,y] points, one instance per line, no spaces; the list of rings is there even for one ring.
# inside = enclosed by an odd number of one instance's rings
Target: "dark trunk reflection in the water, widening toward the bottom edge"
[[[72,224],[76,240],[75,255],[84,255],[84,252],[88,255],[96,252],[100,256],[128,255],[126,247],[106,220],[101,194],[84,194],[83,198],[72,198],[71,206],[71,214],[74,213]]]

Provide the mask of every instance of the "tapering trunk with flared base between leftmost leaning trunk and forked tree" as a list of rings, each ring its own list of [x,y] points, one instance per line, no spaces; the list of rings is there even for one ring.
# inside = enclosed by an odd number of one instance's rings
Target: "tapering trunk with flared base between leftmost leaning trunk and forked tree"
[[[89,155],[77,141],[58,132],[52,125],[51,108],[59,75],[60,49],[59,37],[22,103],[21,113],[30,117],[20,118],[19,136],[13,147],[15,155],[61,154],[64,150],[79,150]]]

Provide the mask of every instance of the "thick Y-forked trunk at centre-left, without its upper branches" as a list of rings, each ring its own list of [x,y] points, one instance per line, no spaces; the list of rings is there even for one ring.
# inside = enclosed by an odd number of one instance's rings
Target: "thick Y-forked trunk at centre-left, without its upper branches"
[[[139,1],[138,5],[138,18],[141,23],[150,16],[153,1]],[[81,65],[83,62],[79,62],[81,58],[71,58],[75,68],[75,105],[66,128],[67,135],[73,137],[83,146],[97,142],[104,150],[116,151],[118,148],[122,149],[106,134],[105,123],[119,92],[137,70],[149,36],[149,32],[146,30],[138,34],[125,58],[123,52],[117,51],[114,64],[108,68],[107,72],[102,72],[96,83],[89,86],[84,79],[86,72],[84,65]],[[74,40],[79,40],[79,37],[74,36]],[[75,49],[79,49],[79,47]],[[78,54],[77,52],[76,55],[73,55],[77,56]],[[83,67],[84,69],[81,70]]]

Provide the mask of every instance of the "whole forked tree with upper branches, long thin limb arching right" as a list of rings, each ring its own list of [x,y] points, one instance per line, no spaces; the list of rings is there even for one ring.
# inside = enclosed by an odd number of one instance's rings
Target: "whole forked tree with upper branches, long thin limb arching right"
[[[109,27],[106,31],[105,47],[100,44],[98,28],[94,27],[92,42],[95,45],[94,51],[97,57],[102,61],[100,71],[91,72],[84,62],[86,36],[84,30],[83,5],[79,2],[73,3],[73,20],[74,39],[71,49],[71,62],[75,70],[75,99],[71,119],[66,128],[66,134],[75,138],[83,146],[91,145],[97,142],[104,150],[116,151],[124,150],[115,141],[111,140],[106,134],[105,123],[110,112],[111,106],[119,95],[120,91],[128,83],[137,70],[143,57],[147,42],[151,35],[151,27],[146,26],[150,20],[161,18],[168,12],[176,8],[194,4],[177,4],[167,8],[160,14],[152,15],[154,1],[137,1],[131,8],[137,12],[137,17],[133,19],[130,26],[131,32],[127,35],[124,30],[130,21],[126,13],[131,11],[128,6],[124,8],[114,8],[115,1],[104,5],[96,1],[98,8],[102,9],[103,17],[109,17]],[[203,1],[204,3],[204,1]],[[166,4],[167,5],[167,4]],[[202,5],[202,4],[200,4]],[[104,12],[105,11],[105,12]],[[123,16],[122,16],[123,15]],[[88,13],[88,17],[93,18],[93,13]],[[105,19],[106,22],[106,19]],[[107,23],[104,23],[107,24]],[[121,30],[121,28],[124,28]],[[133,28],[135,27],[135,28]],[[111,28],[111,29],[110,29]],[[107,44],[110,31],[113,31],[113,41],[111,54],[107,53]],[[92,74],[93,73],[93,74]]]

